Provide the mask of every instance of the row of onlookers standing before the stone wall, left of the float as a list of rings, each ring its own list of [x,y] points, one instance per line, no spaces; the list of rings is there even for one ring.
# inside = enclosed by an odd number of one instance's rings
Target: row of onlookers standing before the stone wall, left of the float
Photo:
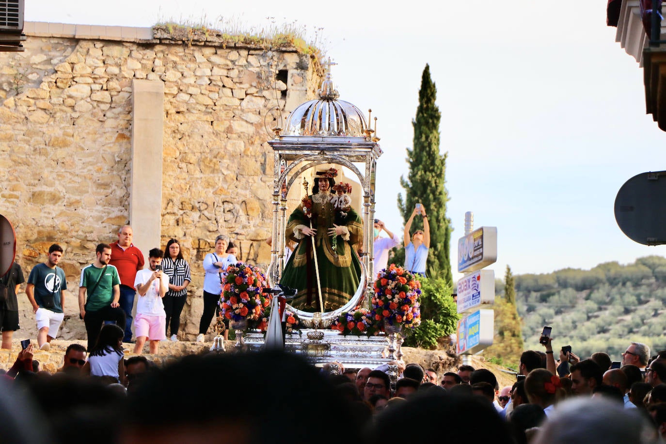
[[[170,239],[164,250],[151,249],[147,261],[132,240],[132,227],[121,227],[118,240],[98,244],[93,262],[81,270],[79,317],[85,324],[88,351],[93,351],[103,326],[109,323],[123,330],[122,342],[135,344],[134,353],[142,353],[146,343],[150,353],[157,353],[160,341],[178,341],[180,314],[192,280],[190,264],[183,258],[176,239]],[[204,258],[204,309],[198,342],[205,340],[218,310],[222,273],[226,266],[237,262],[234,256],[237,251],[228,236],[220,235],[215,239],[214,252]],[[58,266],[63,254],[60,245],[51,245],[45,262],[31,270],[25,288],[37,323],[37,348],[43,351],[50,349],[51,341],[58,335],[66,304],[75,303],[67,298],[67,279],[63,268]],[[11,349],[13,334],[20,328],[17,295],[24,282],[23,270],[17,262],[0,277],[0,331],[4,349]],[[22,345],[23,349],[27,347],[27,343]]]

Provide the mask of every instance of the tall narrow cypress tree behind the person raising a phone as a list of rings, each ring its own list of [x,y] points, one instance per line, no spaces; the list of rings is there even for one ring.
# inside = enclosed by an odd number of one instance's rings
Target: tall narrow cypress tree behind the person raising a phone
[[[398,208],[405,223],[410,218],[414,205],[422,202],[426,207],[430,223],[430,251],[428,252],[428,274],[439,276],[453,286],[451,272],[451,220],[446,217],[448,192],[444,187],[446,180],[446,158],[448,153],[440,154],[440,120],[442,114],[435,105],[437,90],[430,78],[430,66],[426,65],[421,77],[421,89],[418,95],[414,126],[414,144],[407,149],[407,162],[410,172],[407,180],[400,177],[400,184],[406,197],[398,194]],[[412,222],[411,232],[423,229],[419,216]],[[402,260],[401,260],[402,259]],[[395,262],[404,262],[404,250],[400,258],[396,254]]]

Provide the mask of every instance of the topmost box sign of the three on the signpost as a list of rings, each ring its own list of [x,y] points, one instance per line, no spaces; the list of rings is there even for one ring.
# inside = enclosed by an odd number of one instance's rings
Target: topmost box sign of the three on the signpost
[[[458,239],[458,272],[476,272],[498,260],[498,229],[482,226]]]

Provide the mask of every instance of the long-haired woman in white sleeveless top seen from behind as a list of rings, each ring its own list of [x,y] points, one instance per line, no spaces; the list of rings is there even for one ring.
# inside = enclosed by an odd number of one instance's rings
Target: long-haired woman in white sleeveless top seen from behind
[[[83,373],[93,376],[111,376],[125,385],[125,353],[123,353],[125,331],[116,324],[102,327],[97,343],[83,365]]]

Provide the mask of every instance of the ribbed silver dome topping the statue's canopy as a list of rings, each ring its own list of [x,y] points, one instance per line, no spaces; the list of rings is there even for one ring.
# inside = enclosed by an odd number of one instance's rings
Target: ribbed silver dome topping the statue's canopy
[[[319,99],[299,105],[286,122],[284,136],[366,136],[366,120],[349,102],[340,101],[330,71],[317,91]]]

